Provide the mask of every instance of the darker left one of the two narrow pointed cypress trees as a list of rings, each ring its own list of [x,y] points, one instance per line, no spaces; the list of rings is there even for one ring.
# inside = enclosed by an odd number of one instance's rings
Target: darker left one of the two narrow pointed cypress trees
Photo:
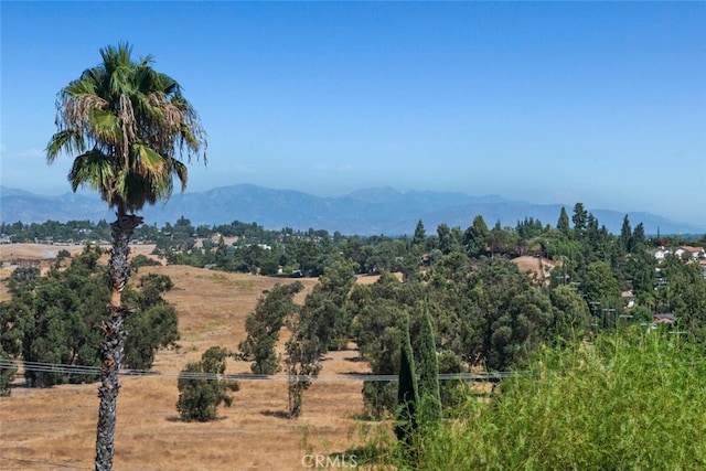
[[[409,315],[405,314],[402,325],[399,346],[399,382],[397,389],[397,424],[395,435],[400,441],[409,443],[411,431],[417,425],[416,414],[419,396],[417,393],[417,373],[409,340]]]

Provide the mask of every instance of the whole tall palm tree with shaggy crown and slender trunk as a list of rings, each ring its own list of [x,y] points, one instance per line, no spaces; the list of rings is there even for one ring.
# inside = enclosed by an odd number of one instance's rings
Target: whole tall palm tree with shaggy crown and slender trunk
[[[58,93],[57,132],[46,147],[49,163],[62,153],[75,156],[68,173],[73,191],[79,186],[98,191],[117,216],[111,224],[110,303],[101,325],[97,470],[113,467],[122,321],[130,312],[121,304],[121,295],[129,275],[130,237],[142,223],[135,212],[146,203],[168,200],[174,176],[183,191],[185,162],[199,159],[202,149],[206,162],[205,132],[181,86],[156,72],[151,56],[133,61],[131,52],[127,43],[101,49],[103,62]]]

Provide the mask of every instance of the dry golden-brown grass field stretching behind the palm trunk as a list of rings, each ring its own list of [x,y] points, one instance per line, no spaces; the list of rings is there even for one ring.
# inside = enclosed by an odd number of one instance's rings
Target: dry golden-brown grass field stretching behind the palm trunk
[[[10,253],[39,260],[60,248],[1,247],[0,299],[8,297]],[[200,360],[210,346],[235,350],[245,338],[245,317],[261,291],[287,280],[181,266],[143,268],[140,274],[149,270],[174,281],[175,289],[165,297],[179,313],[181,340],[178,349],[158,353],[153,366],[158,374],[122,376],[116,470],[295,470],[304,469],[306,453],[343,452],[356,445],[362,383],[346,379],[345,374],[366,372],[367,366],[355,361],[353,350],[333,352],[323,361],[322,378],[304,394],[299,419],[282,417],[287,382],[272,379],[242,381],[233,406],[221,408],[220,419],[213,422],[180,421],[175,404],[181,368]],[[315,283],[301,281],[307,290]],[[248,372],[249,364],[244,362],[232,362],[226,371]],[[28,389],[18,375],[10,397],[0,398],[0,469],[93,469],[97,385]]]

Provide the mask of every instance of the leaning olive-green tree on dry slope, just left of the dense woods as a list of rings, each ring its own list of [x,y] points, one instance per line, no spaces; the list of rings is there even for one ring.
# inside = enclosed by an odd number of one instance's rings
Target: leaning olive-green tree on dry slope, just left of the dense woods
[[[244,360],[253,362],[253,373],[271,375],[280,370],[275,345],[285,319],[298,309],[293,299],[302,289],[299,281],[275,285],[271,291],[263,292],[255,311],[245,318],[247,338],[239,343],[238,350]]]

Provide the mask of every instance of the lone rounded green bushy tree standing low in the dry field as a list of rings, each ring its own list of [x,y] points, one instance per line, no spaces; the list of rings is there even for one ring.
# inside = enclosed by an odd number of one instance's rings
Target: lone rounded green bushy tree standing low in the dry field
[[[176,410],[184,421],[208,421],[217,417],[216,409],[223,404],[231,407],[239,385],[233,379],[220,378],[225,373],[229,353],[221,346],[212,346],[200,362],[188,363],[179,375],[179,400]]]

